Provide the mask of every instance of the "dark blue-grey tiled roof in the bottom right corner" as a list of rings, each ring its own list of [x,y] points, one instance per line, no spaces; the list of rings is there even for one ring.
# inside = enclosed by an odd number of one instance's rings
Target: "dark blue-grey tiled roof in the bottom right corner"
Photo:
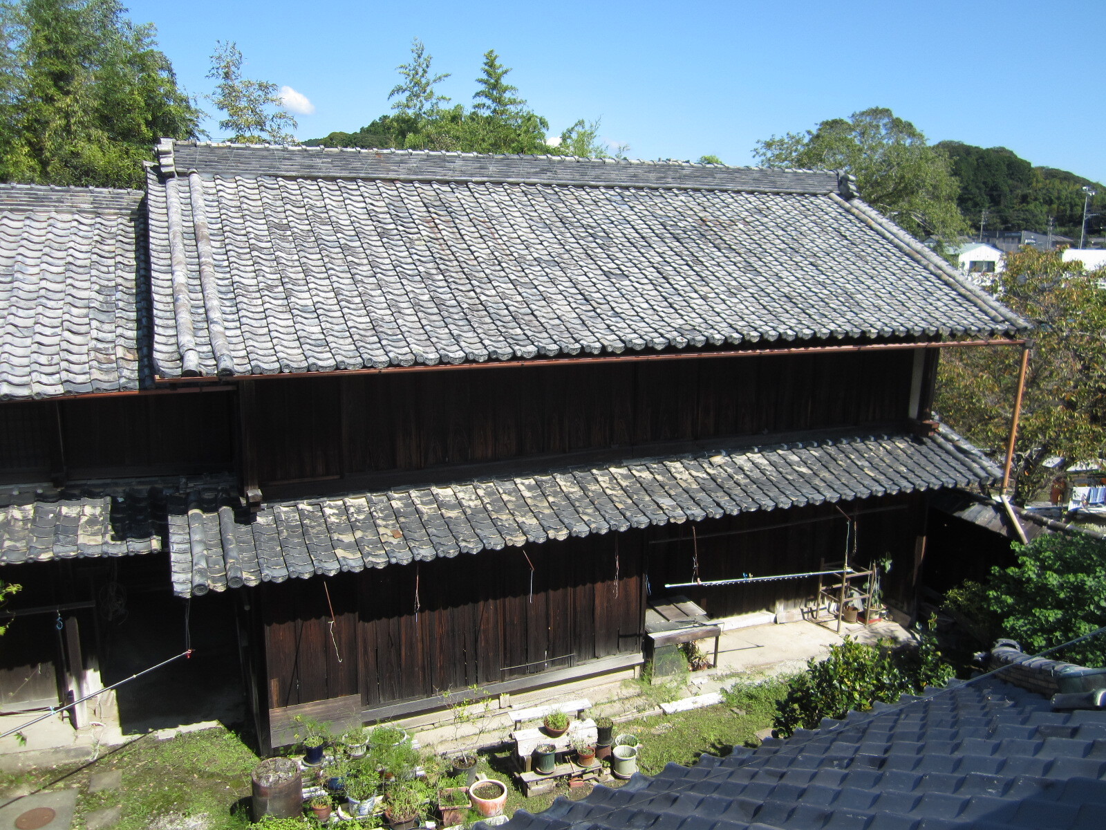
[[[909,698],[904,698],[904,702]],[[1053,712],[995,679],[669,764],[622,789],[514,813],[510,830],[1092,830],[1106,816],[1106,712]],[[880,712],[881,709],[881,712]]]

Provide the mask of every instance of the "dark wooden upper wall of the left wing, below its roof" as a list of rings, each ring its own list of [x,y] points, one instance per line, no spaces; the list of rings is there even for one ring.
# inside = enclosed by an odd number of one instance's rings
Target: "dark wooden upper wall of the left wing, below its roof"
[[[0,480],[233,469],[229,392],[0,404]],[[62,453],[59,453],[59,416]]]

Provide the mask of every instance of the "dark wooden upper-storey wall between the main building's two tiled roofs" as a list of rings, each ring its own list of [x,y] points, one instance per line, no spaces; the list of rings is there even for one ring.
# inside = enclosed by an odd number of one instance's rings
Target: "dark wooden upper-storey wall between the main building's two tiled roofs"
[[[267,381],[261,484],[901,421],[911,366],[890,351]]]

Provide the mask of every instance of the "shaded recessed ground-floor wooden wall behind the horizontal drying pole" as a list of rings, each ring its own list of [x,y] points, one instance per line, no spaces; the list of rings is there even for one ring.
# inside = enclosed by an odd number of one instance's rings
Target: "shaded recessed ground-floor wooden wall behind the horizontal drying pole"
[[[890,556],[893,566],[885,578],[885,592],[896,604],[908,606],[914,594],[917,539],[925,532],[925,497],[862,499],[841,507],[849,513],[859,511],[856,556],[851,556],[851,563],[867,566]],[[816,578],[705,588],[666,589],[665,584],[695,581],[697,551],[699,579],[703,582],[738,579],[747,573],[769,577],[816,571],[822,560],[842,561],[846,526],[833,505],[703,522],[696,527],[697,536],[702,535],[698,540],[682,538],[691,536],[691,526],[669,526],[661,531],[661,538],[680,537],[679,541],[647,546],[651,595],[684,594],[716,618],[772,611],[776,601],[801,603],[817,592]]]

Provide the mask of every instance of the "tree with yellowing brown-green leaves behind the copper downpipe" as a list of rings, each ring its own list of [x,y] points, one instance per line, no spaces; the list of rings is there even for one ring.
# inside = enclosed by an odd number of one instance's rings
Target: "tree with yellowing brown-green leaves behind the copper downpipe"
[[[1024,247],[1005,258],[992,292],[1036,323],[1013,466],[1024,504],[1052,476],[1106,452],[1106,291],[1102,270],[1063,262],[1060,251]],[[950,349],[938,373],[936,408],[952,428],[997,453],[1006,444],[1016,393],[1014,349]],[[1058,467],[1045,467],[1058,456]]]

